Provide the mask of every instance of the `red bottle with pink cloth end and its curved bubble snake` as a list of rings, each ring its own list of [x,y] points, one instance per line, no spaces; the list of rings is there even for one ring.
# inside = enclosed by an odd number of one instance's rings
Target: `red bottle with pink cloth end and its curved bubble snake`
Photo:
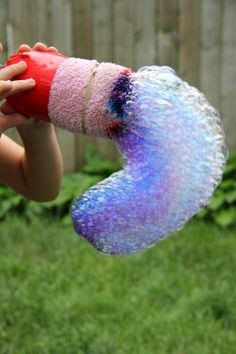
[[[20,112],[76,133],[114,140],[123,169],[75,200],[76,232],[108,254],[139,252],[181,228],[222,178],[217,111],[173,69],[138,72],[96,60],[25,52],[20,78],[36,87],[9,97]],[[19,78],[19,77],[18,77]]]

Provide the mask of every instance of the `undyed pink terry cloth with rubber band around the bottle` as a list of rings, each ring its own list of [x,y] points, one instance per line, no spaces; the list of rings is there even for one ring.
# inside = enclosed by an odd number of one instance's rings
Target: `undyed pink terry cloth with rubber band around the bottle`
[[[117,120],[107,114],[106,104],[112,84],[123,70],[122,66],[98,64],[96,60],[65,60],[56,72],[50,91],[51,121],[72,132],[107,136],[107,128]]]

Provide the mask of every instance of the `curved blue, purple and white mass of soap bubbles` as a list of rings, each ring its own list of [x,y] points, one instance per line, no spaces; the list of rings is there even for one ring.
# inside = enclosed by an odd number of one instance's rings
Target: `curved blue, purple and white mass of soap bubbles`
[[[143,67],[130,80],[125,127],[113,136],[124,168],[72,207],[78,234],[108,254],[142,251],[181,228],[211,198],[227,158],[218,112],[171,68]]]

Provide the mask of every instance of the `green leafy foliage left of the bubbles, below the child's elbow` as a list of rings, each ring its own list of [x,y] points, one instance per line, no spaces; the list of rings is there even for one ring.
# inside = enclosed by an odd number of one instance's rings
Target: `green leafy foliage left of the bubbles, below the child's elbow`
[[[30,201],[0,184],[0,219],[5,218],[9,213],[21,214],[28,220],[34,216],[52,215],[67,223],[70,220],[69,210],[72,201],[120,167],[120,161],[106,160],[96,151],[95,146],[88,145],[85,153],[85,165],[80,172],[64,176],[61,192],[53,201],[44,203]]]

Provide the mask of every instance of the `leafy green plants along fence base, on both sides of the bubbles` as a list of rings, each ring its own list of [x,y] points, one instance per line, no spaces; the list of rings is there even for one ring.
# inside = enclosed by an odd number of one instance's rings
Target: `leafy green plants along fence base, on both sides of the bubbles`
[[[5,218],[9,213],[20,213],[28,220],[34,216],[44,215],[61,219],[64,223],[70,222],[69,210],[72,201],[120,168],[120,160],[113,162],[104,159],[95,146],[88,145],[85,165],[80,172],[64,177],[59,196],[51,202],[29,201],[0,185],[0,218]],[[198,213],[197,218],[215,222],[223,228],[236,225],[236,152],[229,157],[222,183],[216,189],[208,206]]]

